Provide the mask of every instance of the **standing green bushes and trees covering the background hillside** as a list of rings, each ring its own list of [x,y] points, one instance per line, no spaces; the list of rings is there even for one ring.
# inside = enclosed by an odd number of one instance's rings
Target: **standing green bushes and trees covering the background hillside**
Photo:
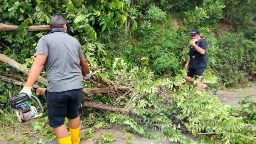
[[[105,1],[97,3],[9,1],[7,3],[2,0],[1,3],[3,17],[0,21],[6,24],[21,24],[22,34],[18,37],[16,34],[6,35],[6,32],[1,34],[4,40],[2,42],[11,48],[4,48],[4,53],[20,51],[21,55],[17,57],[11,54],[11,57],[21,63],[33,54],[34,50],[30,49],[30,46],[34,48],[38,38],[46,34],[39,33],[35,37],[35,33],[26,33],[23,27],[31,24],[46,24],[50,15],[66,12],[69,22],[68,32],[80,40],[89,63],[96,69],[111,66],[113,62],[111,57],[114,56],[125,59],[130,68],[144,65],[152,68],[156,74],[176,76],[187,60],[187,52],[184,50],[188,44],[188,32],[191,28],[198,28],[208,45],[208,67],[218,75],[223,84],[234,86],[254,78],[255,42],[251,37],[254,30],[251,27],[241,27],[252,23],[254,19],[253,15],[248,14],[255,11],[253,9],[255,6],[251,2],[231,4],[221,0],[205,0],[197,3],[188,1],[189,5],[187,5],[184,2],[172,3],[166,0],[152,5],[150,0],[137,2],[115,0],[112,3]],[[103,6],[98,7],[99,4]],[[86,8],[81,10],[83,5]],[[180,12],[184,11],[182,7],[184,8],[185,5],[187,11]],[[35,6],[36,9],[33,8]],[[60,9],[61,6],[63,9]],[[173,11],[175,9],[176,11]],[[163,10],[170,10],[172,14],[167,14]],[[247,17],[239,17],[245,10]],[[128,14],[130,16],[126,16]],[[243,28],[246,35],[237,32],[236,29],[231,33],[220,32],[217,22],[223,20],[233,23],[229,25],[230,27]],[[127,29],[127,26],[134,30]],[[248,36],[250,39],[247,39]],[[30,65],[28,62],[27,64]],[[232,72],[232,75],[227,72]]]

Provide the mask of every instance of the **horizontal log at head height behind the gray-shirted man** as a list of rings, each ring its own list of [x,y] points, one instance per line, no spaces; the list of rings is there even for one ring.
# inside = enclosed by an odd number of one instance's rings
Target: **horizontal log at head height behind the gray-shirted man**
[[[17,31],[17,25],[7,25],[7,24],[0,24],[0,32],[3,31]],[[49,25],[35,25],[35,26],[28,26],[27,31],[50,31]]]

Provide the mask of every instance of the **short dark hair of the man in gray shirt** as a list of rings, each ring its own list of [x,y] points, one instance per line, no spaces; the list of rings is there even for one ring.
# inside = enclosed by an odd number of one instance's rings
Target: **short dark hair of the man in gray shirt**
[[[62,15],[53,15],[50,20],[50,28],[63,28],[63,25],[67,24],[65,18]]]

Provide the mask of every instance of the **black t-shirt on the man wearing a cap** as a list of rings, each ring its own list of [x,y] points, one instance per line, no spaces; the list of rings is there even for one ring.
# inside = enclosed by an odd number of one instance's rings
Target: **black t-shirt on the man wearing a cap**
[[[196,42],[196,45],[205,50],[205,54],[197,52],[195,47],[190,45],[189,50],[189,64],[188,67],[192,69],[206,68],[207,65],[207,45],[203,39]]]

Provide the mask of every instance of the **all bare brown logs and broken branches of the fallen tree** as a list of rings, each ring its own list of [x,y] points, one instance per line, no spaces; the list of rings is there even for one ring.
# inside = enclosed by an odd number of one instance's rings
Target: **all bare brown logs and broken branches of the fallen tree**
[[[16,26],[16,25],[6,25],[3,23],[0,23],[0,31],[17,31],[18,28],[19,28],[19,26]],[[27,31],[50,31],[50,27],[49,27],[49,25],[28,26]],[[22,69],[21,64],[19,64],[18,62],[16,62],[15,60],[11,59],[10,57],[8,57],[4,54],[0,54],[0,61],[12,66],[18,72],[22,72],[26,75],[29,74],[29,69]],[[5,81],[5,82],[10,82],[10,83],[13,83],[16,85],[24,84],[24,82],[25,82],[24,80],[22,80],[22,81],[20,81],[21,79],[16,80],[17,76],[16,76],[16,78],[14,78],[14,77],[15,76],[11,76],[11,75],[2,75],[2,76],[0,76],[0,80]],[[48,82],[44,77],[39,76],[37,78],[37,82],[39,82],[47,87]],[[117,96],[117,95],[125,96],[125,95],[129,95],[132,92],[130,87],[118,86],[111,80],[108,80],[108,79],[103,80],[95,75],[92,75],[90,82],[92,82],[93,84],[95,84],[101,88],[84,88],[83,92],[87,95],[92,95],[92,94],[110,95],[111,94],[113,96]],[[45,94],[46,89],[40,88],[36,84],[34,85],[34,88],[37,89],[36,90],[37,95]],[[133,96],[132,99],[135,100],[136,97]],[[89,101],[85,101],[85,106],[92,107],[92,108],[98,108],[98,109],[111,110],[111,111],[120,111],[120,112],[124,112],[126,114],[131,109],[129,107],[125,107],[124,108],[125,110],[122,110],[122,108],[116,108],[113,106],[97,104],[97,103],[93,103],[93,102],[89,102]]]

